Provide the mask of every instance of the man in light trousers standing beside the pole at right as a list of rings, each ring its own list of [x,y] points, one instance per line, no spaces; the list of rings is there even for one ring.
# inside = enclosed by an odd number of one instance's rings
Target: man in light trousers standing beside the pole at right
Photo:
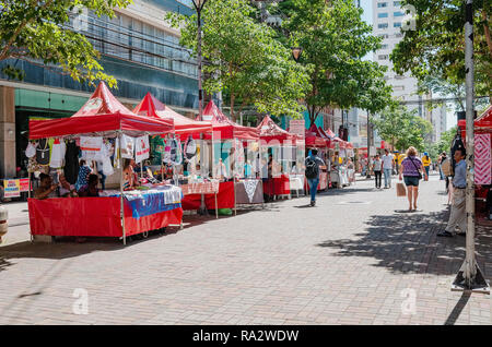
[[[437,232],[437,236],[452,237],[455,228],[458,227],[460,232],[457,235],[466,235],[467,231],[467,213],[466,213],[466,188],[467,188],[467,163],[465,161],[465,149],[455,151],[454,158],[456,160],[455,177],[453,178],[453,203],[449,220],[444,231]]]

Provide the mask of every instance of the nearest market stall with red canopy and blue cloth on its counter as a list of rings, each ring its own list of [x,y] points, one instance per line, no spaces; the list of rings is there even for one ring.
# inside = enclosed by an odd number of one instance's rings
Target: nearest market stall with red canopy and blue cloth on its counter
[[[179,188],[166,182],[139,184],[132,181],[132,175],[124,176],[124,158],[128,163],[142,161],[149,156],[149,135],[173,130],[172,120],[152,119],[128,110],[103,82],[72,117],[31,120],[30,139],[38,141],[34,165],[39,169],[46,166],[55,168],[55,182],[69,183],[68,196],[77,196],[72,195],[75,191],[72,190],[74,181],[75,188],[82,181],[85,184],[77,189],[79,195],[85,192],[83,196],[93,196],[30,199],[31,234],[34,237],[110,236],[120,237],[126,243],[128,236],[161,229],[171,224],[179,225],[183,216]],[[101,172],[105,176],[119,174],[116,186],[119,189],[87,187],[91,168],[79,168],[79,155],[87,161],[101,161]],[[85,168],[87,171],[84,171]],[[125,166],[125,170],[127,168],[130,170],[129,165]],[[50,175],[52,171],[47,172]],[[132,184],[124,190],[124,183],[128,181]],[[133,188],[137,184],[139,190]],[[95,195],[89,194],[93,190]]]

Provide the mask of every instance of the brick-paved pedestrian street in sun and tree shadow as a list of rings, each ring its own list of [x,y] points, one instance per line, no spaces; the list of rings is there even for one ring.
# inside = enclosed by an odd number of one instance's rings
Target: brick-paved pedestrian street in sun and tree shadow
[[[491,296],[450,291],[465,238],[436,237],[448,215],[443,181],[421,182],[422,212],[411,214],[395,212],[408,207],[395,188],[373,187],[330,190],[316,207],[300,198],[185,216],[184,230],[126,247],[31,243],[26,204],[7,204],[0,323],[491,324]],[[492,231],[477,234],[490,280]]]

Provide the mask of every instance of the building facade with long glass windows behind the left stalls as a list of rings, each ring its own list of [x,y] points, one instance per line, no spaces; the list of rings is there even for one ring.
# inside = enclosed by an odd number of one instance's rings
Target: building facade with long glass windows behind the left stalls
[[[191,14],[191,0],[134,0],[116,9],[113,19],[85,12],[71,15],[72,29],[84,34],[101,52],[104,71],[117,80],[112,89],[130,108],[151,92],[184,115],[198,108],[197,63],[179,46],[179,32],[164,21],[167,12]],[[0,178],[23,167],[30,117],[69,117],[86,101],[94,86],[77,83],[57,67],[10,59],[25,72],[23,81],[0,73]]]

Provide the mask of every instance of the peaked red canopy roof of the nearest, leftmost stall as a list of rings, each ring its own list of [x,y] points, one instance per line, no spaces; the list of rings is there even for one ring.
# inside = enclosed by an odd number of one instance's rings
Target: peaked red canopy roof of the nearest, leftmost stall
[[[152,119],[133,113],[119,103],[101,82],[94,94],[72,117],[50,120],[31,120],[30,139],[57,137],[75,134],[115,136],[120,130],[131,136],[173,131],[169,119]]]

